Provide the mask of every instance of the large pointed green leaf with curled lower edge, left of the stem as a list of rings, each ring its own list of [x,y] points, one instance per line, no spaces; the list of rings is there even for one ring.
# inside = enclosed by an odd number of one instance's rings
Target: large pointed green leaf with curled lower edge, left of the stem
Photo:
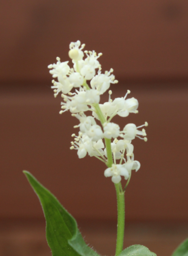
[[[46,218],[47,243],[53,256],[98,256],[84,242],[76,220],[63,208],[57,198],[43,187],[30,172],[23,171],[39,197]]]

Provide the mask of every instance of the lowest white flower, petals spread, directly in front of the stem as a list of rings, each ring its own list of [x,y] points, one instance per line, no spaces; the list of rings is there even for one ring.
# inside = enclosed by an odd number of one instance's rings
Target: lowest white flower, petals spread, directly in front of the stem
[[[105,170],[105,177],[111,177],[114,183],[119,183],[121,181],[121,176],[127,180],[129,173],[127,169],[122,164],[112,164],[112,167]]]

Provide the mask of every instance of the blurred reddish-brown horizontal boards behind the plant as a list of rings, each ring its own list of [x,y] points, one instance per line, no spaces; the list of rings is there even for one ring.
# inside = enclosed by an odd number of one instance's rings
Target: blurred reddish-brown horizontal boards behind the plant
[[[170,256],[188,237],[188,2],[4,0],[0,17],[0,256],[51,255],[23,170],[78,220],[87,243],[115,253],[114,185],[102,162],[69,150],[77,121],[59,115],[61,97],[50,88],[47,65],[69,60],[77,40],[103,53],[103,72],[114,69],[112,99],[129,89],[139,101],[139,114],[114,122],[149,124],[148,142],[133,141],[141,168],[126,191],[124,246]]]

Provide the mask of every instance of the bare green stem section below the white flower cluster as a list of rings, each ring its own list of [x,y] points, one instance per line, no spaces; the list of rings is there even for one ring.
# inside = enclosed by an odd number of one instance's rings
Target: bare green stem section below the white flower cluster
[[[124,228],[125,228],[125,192],[122,190],[121,182],[115,184],[117,204],[118,204],[118,225],[117,225],[117,241],[116,254],[118,256],[123,250]]]

